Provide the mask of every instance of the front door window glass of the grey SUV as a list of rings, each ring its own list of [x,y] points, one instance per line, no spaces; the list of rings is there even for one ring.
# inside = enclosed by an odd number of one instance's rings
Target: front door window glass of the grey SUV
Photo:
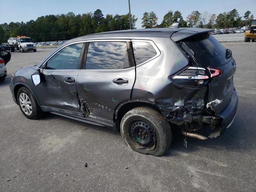
[[[56,53],[46,64],[49,70],[74,70],[77,69],[78,60],[83,43],[72,44]]]

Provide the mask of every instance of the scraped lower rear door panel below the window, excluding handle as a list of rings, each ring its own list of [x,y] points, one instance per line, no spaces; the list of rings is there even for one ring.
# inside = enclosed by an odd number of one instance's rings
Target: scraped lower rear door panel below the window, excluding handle
[[[113,80],[118,78],[127,79],[128,83],[114,83]],[[116,106],[130,99],[134,81],[135,68],[80,70],[76,86],[85,116],[90,114],[113,121]],[[89,113],[86,114],[86,111]]]

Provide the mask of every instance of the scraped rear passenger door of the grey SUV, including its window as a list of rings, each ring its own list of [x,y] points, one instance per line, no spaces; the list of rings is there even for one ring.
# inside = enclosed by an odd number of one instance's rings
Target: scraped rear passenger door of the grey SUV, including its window
[[[85,67],[76,84],[80,103],[89,117],[113,121],[116,106],[130,99],[135,81],[130,40],[96,40],[87,45]]]

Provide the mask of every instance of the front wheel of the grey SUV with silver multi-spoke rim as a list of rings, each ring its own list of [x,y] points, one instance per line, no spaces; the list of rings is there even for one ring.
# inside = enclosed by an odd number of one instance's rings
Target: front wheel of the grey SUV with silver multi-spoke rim
[[[28,99],[26,99],[26,97],[28,97]],[[33,96],[32,92],[28,88],[21,87],[18,90],[17,100],[18,105],[20,106],[20,110],[24,114],[24,116],[26,116],[26,118],[37,119],[42,116],[42,110],[38,105],[36,98]],[[23,102],[26,102],[23,105],[22,100]],[[28,108],[26,108],[26,106],[28,106]]]

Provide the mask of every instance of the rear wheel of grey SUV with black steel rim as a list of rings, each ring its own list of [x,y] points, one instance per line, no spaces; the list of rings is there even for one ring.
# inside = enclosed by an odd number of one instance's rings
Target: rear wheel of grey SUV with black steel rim
[[[128,111],[122,118],[120,132],[129,148],[147,155],[165,154],[172,142],[168,122],[159,112],[148,107]]]

